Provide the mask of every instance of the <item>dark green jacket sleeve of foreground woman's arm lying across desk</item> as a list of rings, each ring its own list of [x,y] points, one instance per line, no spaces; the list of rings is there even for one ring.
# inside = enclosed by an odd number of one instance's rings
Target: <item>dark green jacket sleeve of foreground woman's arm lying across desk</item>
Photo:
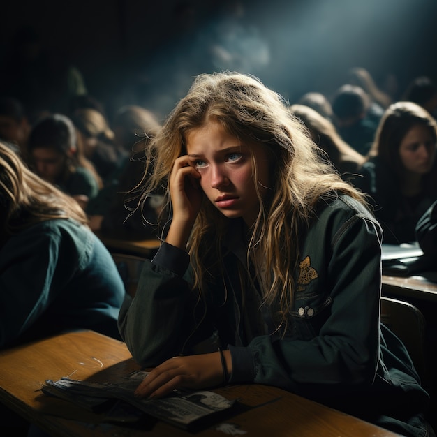
[[[253,381],[301,392],[306,385],[371,383],[379,351],[380,228],[356,214],[331,239],[325,280],[318,292],[330,302],[328,316],[311,339],[258,336],[247,348],[230,347],[232,382]],[[314,249],[313,249],[314,250]],[[323,267],[320,267],[322,269]]]

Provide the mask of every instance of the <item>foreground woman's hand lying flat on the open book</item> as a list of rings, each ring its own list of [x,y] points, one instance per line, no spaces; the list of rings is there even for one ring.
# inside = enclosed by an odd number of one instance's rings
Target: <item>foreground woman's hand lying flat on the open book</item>
[[[175,389],[202,389],[223,383],[218,352],[174,357],[155,367],[135,390],[135,396],[154,399]]]

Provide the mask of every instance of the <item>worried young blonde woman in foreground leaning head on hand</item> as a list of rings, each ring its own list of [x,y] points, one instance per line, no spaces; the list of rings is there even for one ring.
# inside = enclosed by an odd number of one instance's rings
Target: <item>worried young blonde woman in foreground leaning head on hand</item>
[[[427,435],[428,394],[379,321],[378,222],[280,96],[200,75],[149,150],[143,199],[168,178],[172,221],[120,310],[133,357],[156,366],[138,397],[276,385]]]

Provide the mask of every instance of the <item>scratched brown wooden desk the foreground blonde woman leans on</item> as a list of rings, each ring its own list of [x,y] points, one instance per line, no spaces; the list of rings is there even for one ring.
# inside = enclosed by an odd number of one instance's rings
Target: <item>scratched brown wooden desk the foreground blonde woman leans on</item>
[[[138,365],[120,341],[92,331],[54,336],[0,351],[0,402],[52,436],[193,436],[163,422],[154,422],[149,429],[141,430],[104,423],[101,415],[89,413],[73,403],[40,392],[47,379],[58,380],[70,376],[75,379],[108,380],[111,376],[126,374],[135,369],[138,369]],[[216,424],[196,433],[196,436],[232,435],[217,429],[218,426],[232,427],[248,437],[397,436],[373,424],[274,387],[235,385],[216,391],[229,399],[239,398],[239,403],[249,408],[244,413],[230,417],[225,424]]]

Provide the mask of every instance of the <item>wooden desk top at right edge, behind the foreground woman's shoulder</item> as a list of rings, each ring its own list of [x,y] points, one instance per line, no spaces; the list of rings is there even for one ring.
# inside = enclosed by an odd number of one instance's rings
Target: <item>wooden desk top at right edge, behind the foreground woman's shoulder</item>
[[[433,281],[430,280],[433,279]],[[414,299],[414,301],[437,302],[436,272],[424,272],[414,276],[383,275],[383,295],[399,299]]]

